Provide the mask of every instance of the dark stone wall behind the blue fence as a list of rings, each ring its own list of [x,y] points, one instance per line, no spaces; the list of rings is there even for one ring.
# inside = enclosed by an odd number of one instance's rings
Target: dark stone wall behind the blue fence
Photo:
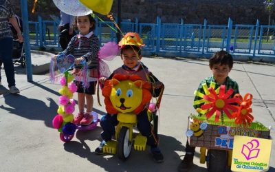
[[[14,11],[21,14],[20,1],[11,0]],[[29,18],[37,20],[40,14],[43,19],[50,19],[50,14],[59,15],[58,9],[52,0],[47,1],[46,7],[37,6],[36,12],[31,13],[33,1],[29,3]],[[260,24],[267,25],[268,12],[265,11],[264,0],[120,0],[122,19],[135,20],[142,23],[155,23],[157,16],[161,17],[163,23],[178,23],[184,19],[184,23],[203,23],[207,19],[209,24],[226,24],[228,17],[234,23],[254,24],[256,19]],[[111,12],[116,15],[117,0],[113,1]],[[102,19],[107,19],[99,15]],[[272,19],[275,15],[272,12]]]

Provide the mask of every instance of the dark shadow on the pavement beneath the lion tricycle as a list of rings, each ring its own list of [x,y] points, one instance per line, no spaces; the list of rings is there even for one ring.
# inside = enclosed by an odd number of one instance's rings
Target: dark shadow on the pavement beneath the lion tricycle
[[[164,135],[159,135],[159,147],[164,154],[164,163],[157,164],[153,162],[149,147],[146,148],[146,151],[135,151],[132,149],[131,155],[126,162],[118,159],[117,155],[96,155],[94,150],[98,145],[89,147],[88,144],[89,141],[101,141],[101,131],[100,127],[97,127],[93,131],[78,131],[76,133],[78,141],[65,143],[65,151],[74,153],[80,156],[80,158],[85,158],[89,162],[97,164],[104,171],[113,171],[113,169],[118,168],[120,171],[176,171],[177,165],[181,161],[179,155],[175,152],[184,150],[181,142],[173,137]],[[172,159],[172,161],[168,159]],[[173,164],[166,164],[166,162],[173,162]],[[201,167],[196,166],[196,169],[198,168]]]

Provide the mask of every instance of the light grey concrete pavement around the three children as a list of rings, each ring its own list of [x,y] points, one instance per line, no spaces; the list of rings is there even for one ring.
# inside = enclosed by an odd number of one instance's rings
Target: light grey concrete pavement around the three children
[[[32,63],[47,65],[50,56],[32,52]],[[195,112],[193,92],[203,78],[211,75],[208,61],[144,57],[142,62],[166,86],[159,110],[159,147],[164,163],[155,164],[149,149],[133,150],[126,162],[116,155],[96,155],[94,149],[101,141],[100,125],[92,131],[77,131],[71,142],[63,143],[52,127],[61,85],[50,83],[47,75],[34,75],[34,82],[28,83],[24,69],[15,67],[21,94],[4,91],[0,96],[0,171],[177,171],[185,153],[187,118]],[[107,63],[111,71],[122,65],[119,57]],[[3,86],[8,87],[3,69],[1,76]],[[275,128],[275,65],[234,63],[230,77],[239,83],[242,95],[253,94],[255,120]],[[94,111],[104,114],[96,96],[94,100]],[[101,95],[100,101],[104,103]],[[274,130],[271,135],[275,138]],[[199,149],[196,151],[191,171],[207,171],[206,164],[199,164]],[[274,143],[270,166],[270,171],[275,171]]]

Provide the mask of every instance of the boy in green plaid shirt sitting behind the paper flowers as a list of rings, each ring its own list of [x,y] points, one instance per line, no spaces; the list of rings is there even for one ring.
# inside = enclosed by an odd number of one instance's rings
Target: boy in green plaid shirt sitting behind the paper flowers
[[[204,92],[202,87],[203,83],[206,83],[207,86],[210,87],[210,83],[214,82],[216,83],[214,89],[217,89],[217,87],[220,87],[221,85],[225,85],[226,91],[228,91],[228,89],[230,88],[234,90],[232,96],[234,96],[235,94],[239,94],[238,83],[236,83],[236,81],[232,80],[228,76],[233,67],[233,58],[228,52],[222,50],[214,53],[209,59],[209,67],[213,75],[201,81],[201,83],[199,84],[199,88],[197,89],[198,92]],[[232,98],[232,96],[230,98]],[[199,96],[195,96],[195,100],[199,99],[201,99]],[[199,105],[194,105],[194,108],[200,109],[201,105],[203,105],[203,103]],[[184,155],[184,160],[182,160],[177,167],[178,171],[185,172],[190,170],[193,164],[195,148],[196,147],[190,147],[187,140],[185,149],[186,154]]]

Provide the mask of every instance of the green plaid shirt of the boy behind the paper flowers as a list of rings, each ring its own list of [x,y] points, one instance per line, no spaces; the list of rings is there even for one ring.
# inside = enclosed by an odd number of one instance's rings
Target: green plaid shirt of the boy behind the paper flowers
[[[220,87],[221,85],[219,83],[216,82],[216,80],[214,79],[214,76],[210,76],[208,78],[205,78],[204,80],[201,81],[201,83],[199,84],[199,88],[197,89],[197,92],[201,92],[204,94],[203,91],[203,87],[202,84],[206,83],[207,87],[210,87],[210,83],[216,83],[214,89],[217,89],[218,87]],[[239,94],[239,85],[238,83],[236,83],[236,81],[232,80],[231,78],[229,78],[229,76],[225,79],[225,83],[223,83],[223,85],[225,85],[226,88],[226,92],[228,91],[228,89],[232,88],[234,90],[233,94],[231,94],[230,98],[232,98],[235,94]],[[195,100],[200,100],[201,98],[199,96],[195,96]],[[203,105],[203,103],[199,104],[199,105],[194,105],[194,108],[200,108],[201,105]]]

